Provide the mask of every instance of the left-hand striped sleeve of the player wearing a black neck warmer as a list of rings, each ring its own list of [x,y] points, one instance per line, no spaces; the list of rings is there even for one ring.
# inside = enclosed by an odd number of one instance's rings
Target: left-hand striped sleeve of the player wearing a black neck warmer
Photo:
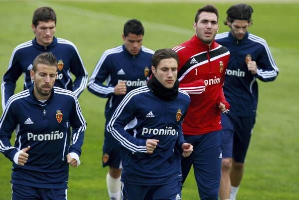
[[[134,124],[134,120],[137,120],[135,118],[135,112],[132,93],[129,92],[113,114],[107,125],[107,131],[111,133],[123,147],[130,151],[146,153],[146,140],[137,139],[125,130],[125,127],[129,122]]]

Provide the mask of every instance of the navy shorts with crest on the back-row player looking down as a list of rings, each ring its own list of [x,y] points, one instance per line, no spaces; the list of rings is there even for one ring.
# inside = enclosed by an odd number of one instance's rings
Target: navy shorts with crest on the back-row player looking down
[[[110,166],[113,168],[121,168],[121,144],[106,130],[107,121],[105,124],[105,138],[103,145],[102,163],[103,167]]]

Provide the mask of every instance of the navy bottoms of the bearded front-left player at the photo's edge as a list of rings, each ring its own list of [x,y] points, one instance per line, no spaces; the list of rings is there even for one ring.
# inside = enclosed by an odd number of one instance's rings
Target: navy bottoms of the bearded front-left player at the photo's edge
[[[67,189],[44,189],[12,184],[12,200],[67,200]]]

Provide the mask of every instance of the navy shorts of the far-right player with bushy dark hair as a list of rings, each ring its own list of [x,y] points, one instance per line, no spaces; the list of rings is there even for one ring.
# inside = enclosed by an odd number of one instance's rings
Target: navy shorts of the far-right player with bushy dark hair
[[[224,132],[223,158],[233,158],[237,163],[244,163],[255,117],[235,117],[222,114],[221,124]]]

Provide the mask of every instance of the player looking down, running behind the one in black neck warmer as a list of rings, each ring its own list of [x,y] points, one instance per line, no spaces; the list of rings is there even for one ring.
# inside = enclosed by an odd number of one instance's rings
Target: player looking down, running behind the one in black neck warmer
[[[105,107],[106,124],[127,92],[147,83],[153,51],[142,46],[144,27],[137,19],[130,19],[124,25],[124,44],[106,50],[90,77],[88,90],[108,98]],[[106,84],[104,82],[106,81]],[[105,129],[103,145],[103,167],[109,166],[106,183],[110,200],[119,200],[121,189],[121,146]]]

